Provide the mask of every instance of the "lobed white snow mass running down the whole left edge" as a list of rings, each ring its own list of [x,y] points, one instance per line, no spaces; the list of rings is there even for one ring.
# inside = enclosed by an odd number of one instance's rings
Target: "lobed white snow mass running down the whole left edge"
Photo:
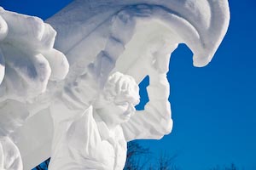
[[[28,105],[48,82],[67,75],[65,55],[53,48],[55,35],[43,20],[0,7],[0,169],[22,169],[11,135],[32,116]]]

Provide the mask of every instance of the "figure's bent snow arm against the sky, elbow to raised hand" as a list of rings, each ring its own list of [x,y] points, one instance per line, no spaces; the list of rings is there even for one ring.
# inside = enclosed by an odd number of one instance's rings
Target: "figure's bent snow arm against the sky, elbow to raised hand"
[[[160,139],[172,131],[170,85],[166,77],[170,54],[148,55],[148,104],[136,111],[129,122],[122,124],[125,139]]]

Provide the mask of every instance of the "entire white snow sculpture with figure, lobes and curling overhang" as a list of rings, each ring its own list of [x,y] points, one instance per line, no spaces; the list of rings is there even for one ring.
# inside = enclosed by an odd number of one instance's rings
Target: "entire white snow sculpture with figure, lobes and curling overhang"
[[[122,169],[127,141],[172,130],[166,72],[177,44],[207,65],[229,20],[227,0],[75,0],[49,24],[1,8],[0,166],[52,156],[52,170]],[[135,111],[146,76],[149,102]]]

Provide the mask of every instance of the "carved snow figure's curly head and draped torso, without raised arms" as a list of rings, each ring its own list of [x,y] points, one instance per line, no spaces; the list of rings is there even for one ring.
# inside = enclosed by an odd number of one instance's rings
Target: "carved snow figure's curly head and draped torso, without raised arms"
[[[52,105],[55,136],[49,169],[122,169],[126,139],[120,125],[135,113],[138,90],[132,77],[116,72],[86,110],[84,105],[77,110],[62,102]]]

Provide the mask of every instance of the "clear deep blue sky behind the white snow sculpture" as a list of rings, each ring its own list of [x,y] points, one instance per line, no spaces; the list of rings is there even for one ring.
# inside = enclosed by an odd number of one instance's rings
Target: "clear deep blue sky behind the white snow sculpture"
[[[68,2],[0,0],[0,6],[47,19]],[[253,0],[230,0],[229,31],[206,67],[193,67],[184,45],[172,54],[172,133],[159,141],[141,142],[156,155],[160,150],[177,153],[176,164],[183,170],[231,162],[256,169],[255,9]]]

